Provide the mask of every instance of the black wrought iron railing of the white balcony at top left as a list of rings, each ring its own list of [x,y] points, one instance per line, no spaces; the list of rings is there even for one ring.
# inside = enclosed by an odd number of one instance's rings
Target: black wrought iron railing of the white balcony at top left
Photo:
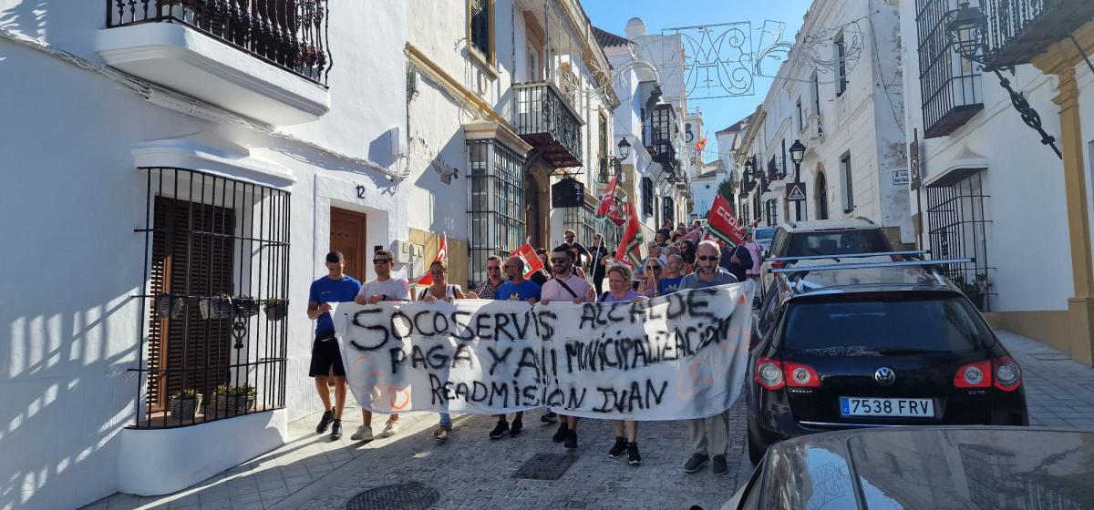
[[[106,0],[106,27],[178,23],[325,84],[331,58],[326,0]]]

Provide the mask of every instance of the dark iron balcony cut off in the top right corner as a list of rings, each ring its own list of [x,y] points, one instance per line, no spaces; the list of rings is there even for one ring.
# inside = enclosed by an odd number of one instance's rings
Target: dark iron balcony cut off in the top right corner
[[[1094,19],[1091,0],[980,0],[988,17],[988,63],[1028,63]]]

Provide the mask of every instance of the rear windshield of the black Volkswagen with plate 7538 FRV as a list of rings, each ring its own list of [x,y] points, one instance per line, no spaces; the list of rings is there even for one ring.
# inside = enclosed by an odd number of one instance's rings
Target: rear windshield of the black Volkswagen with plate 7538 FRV
[[[955,353],[993,343],[991,332],[959,296],[836,296],[791,301],[782,336],[787,351],[897,355]]]

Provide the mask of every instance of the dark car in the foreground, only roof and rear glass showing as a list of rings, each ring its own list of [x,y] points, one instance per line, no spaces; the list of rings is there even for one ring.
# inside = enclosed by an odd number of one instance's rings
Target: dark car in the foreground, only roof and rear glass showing
[[[780,442],[722,510],[1090,509],[1094,432],[842,430]]]

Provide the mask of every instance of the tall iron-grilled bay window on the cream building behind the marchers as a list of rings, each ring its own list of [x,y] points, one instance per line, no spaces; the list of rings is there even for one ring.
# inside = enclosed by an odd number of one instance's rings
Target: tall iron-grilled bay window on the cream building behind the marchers
[[[467,141],[468,275],[486,280],[486,259],[524,245],[524,157],[494,139]]]

